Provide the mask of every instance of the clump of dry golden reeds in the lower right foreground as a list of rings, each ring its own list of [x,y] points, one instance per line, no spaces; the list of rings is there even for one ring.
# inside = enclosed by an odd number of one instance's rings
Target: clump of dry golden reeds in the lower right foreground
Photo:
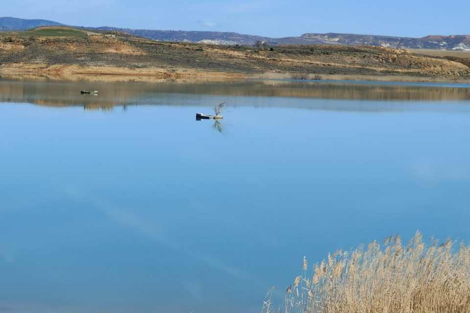
[[[338,250],[297,276],[286,292],[285,313],[469,313],[470,245],[447,240],[426,246],[417,232],[381,248]]]

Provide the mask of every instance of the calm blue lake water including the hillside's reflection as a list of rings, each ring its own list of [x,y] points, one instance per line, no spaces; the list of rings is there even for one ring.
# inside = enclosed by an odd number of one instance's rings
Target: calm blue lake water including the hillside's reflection
[[[304,255],[468,241],[469,139],[465,86],[0,80],[0,311],[255,313]]]

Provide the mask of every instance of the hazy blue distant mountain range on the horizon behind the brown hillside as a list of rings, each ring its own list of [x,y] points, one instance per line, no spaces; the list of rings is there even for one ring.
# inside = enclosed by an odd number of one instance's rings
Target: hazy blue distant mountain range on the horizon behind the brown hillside
[[[63,25],[47,20],[0,18],[0,31],[26,30],[39,26]],[[217,45],[254,45],[257,41],[268,45],[374,45],[392,48],[440,49],[470,51],[470,35],[426,36],[423,38],[391,37],[355,34],[306,33],[298,37],[269,38],[234,32],[148,30],[118,27],[84,27],[96,31],[122,31],[135,36],[173,42],[197,42]]]

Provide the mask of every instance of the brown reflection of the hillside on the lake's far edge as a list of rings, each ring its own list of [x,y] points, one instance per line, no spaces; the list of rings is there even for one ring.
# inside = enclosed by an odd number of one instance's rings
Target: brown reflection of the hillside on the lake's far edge
[[[81,95],[79,92],[81,89],[97,89],[99,95]],[[175,95],[177,95],[178,103],[171,101],[172,97],[176,97]],[[72,83],[0,80],[1,102],[21,102],[52,107],[82,106],[86,110],[110,110],[114,106],[128,105],[195,105],[191,103],[194,95],[375,101],[462,101],[470,100],[470,88],[285,81]],[[212,106],[213,103],[207,105]],[[237,104],[231,103],[231,105]],[[288,102],[285,105],[279,102],[272,105],[263,103],[262,106],[292,107],[292,103]]]

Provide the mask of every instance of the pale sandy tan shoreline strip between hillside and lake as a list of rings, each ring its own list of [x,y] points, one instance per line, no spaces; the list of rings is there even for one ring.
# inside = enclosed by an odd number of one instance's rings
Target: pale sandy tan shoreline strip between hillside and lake
[[[11,64],[0,66],[0,77],[10,79],[44,78],[64,81],[96,81],[96,82],[159,82],[165,80],[239,80],[239,79],[273,79],[273,80],[328,80],[328,81],[376,81],[376,82],[414,82],[414,83],[450,83],[468,84],[470,79],[448,77],[412,76],[412,75],[364,75],[364,74],[317,74],[317,73],[242,73],[207,71],[204,69],[179,68],[168,70],[162,67],[140,69],[126,67],[79,67],[76,65],[27,65]]]

